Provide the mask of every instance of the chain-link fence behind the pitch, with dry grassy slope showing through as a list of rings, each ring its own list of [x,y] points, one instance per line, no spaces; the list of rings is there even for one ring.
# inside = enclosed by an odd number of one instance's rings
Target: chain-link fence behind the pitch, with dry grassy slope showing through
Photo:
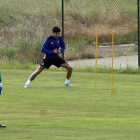
[[[39,64],[42,44],[52,28],[62,27],[62,0],[1,0],[0,63]],[[98,65],[138,66],[137,0],[64,0],[64,58],[73,67],[94,67],[96,27]]]

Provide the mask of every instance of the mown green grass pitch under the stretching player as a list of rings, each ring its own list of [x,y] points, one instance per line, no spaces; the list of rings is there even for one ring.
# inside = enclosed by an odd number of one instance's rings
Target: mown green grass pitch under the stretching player
[[[140,76],[73,72],[64,87],[65,71],[44,70],[28,89],[33,70],[2,69],[0,96],[2,140],[138,140]]]

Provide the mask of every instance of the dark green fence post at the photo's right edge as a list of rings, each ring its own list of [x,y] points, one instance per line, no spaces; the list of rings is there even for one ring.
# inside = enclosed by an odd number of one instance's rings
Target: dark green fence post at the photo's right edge
[[[138,1],[138,67],[140,67],[140,25],[139,25],[139,23],[140,23],[140,14],[139,14],[140,2],[139,2],[139,0],[137,0],[137,1]]]

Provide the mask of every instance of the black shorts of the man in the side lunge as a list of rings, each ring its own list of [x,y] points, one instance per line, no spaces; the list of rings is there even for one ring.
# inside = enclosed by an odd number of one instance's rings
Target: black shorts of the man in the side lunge
[[[57,57],[54,59],[43,59],[43,61],[41,62],[40,66],[44,66],[45,68],[49,69],[49,67],[51,65],[54,65],[56,67],[61,67],[61,64],[67,63],[64,59],[62,59],[61,57]]]

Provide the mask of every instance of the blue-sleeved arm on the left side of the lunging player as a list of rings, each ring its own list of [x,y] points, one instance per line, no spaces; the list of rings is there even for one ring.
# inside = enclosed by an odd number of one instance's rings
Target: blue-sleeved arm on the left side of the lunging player
[[[45,53],[45,54],[53,54],[54,53],[54,50],[48,50],[47,49],[48,46],[49,46],[49,41],[48,41],[48,39],[46,39],[44,41],[43,45],[42,45],[41,52],[42,53]]]

